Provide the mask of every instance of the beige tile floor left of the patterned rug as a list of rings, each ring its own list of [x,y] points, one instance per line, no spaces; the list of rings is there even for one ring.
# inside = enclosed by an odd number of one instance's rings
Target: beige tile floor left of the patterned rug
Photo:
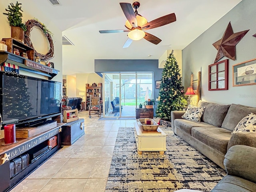
[[[11,192],[104,192],[119,127],[136,120],[98,121],[97,115],[79,112],[85,135],[64,146]]]

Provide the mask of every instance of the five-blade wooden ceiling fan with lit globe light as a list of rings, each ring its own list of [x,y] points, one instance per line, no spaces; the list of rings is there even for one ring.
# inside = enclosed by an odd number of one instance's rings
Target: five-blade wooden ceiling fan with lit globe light
[[[138,14],[137,9],[140,7],[139,2],[134,2],[132,5],[130,3],[120,3],[120,6],[124,12],[124,15],[127,18],[127,21],[124,25],[127,28],[127,30],[100,30],[99,32],[100,33],[128,32],[129,38],[124,43],[123,48],[129,47],[130,44],[132,43],[132,40],[140,40],[142,38],[157,45],[162,40],[152,34],[144,32],[144,30],[157,28],[157,27],[176,21],[175,13],[171,13],[148,22],[146,18]],[[132,7],[135,9],[135,12]]]

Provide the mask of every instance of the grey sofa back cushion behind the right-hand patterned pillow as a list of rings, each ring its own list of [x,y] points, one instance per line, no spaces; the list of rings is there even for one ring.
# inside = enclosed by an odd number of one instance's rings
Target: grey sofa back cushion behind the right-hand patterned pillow
[[[221,127],[233,131],[240,120],[250,113],[256,114],[256,107],[231,104]]]

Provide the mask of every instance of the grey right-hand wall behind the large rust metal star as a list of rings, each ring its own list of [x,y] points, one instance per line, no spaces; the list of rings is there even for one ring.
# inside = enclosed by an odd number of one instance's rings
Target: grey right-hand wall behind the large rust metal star
[[[232,65],[256,58],[256,1],[243,0],[230,12],[218,20],[196,40],[182,50],[183,85],[190,85],[190,75],[202,72],[202,100],[222,104],[242,104],[256,106],[256,85],[232,86]],[[213,64],[217,50],[212,44],[222,38],[228,23],[231,22],[234,33],[249,30],[236,45],[236,60],[229,59],[228,90],[208,91],[208,65]],[[220,59],[225,60],[226,57]]]

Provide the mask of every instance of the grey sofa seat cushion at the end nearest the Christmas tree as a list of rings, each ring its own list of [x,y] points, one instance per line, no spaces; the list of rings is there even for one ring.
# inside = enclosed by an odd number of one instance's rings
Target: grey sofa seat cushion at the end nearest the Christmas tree
[[[215,127],[215,126],[207,124],[205,122],[194,122],[192,120],[186,120],[186,119],[175,119],[174,126],[176,128],[180,128],[182,131],[184,131],[190,135],[191,135],[192,127],[199,127],[199,126],[200,127]]]

